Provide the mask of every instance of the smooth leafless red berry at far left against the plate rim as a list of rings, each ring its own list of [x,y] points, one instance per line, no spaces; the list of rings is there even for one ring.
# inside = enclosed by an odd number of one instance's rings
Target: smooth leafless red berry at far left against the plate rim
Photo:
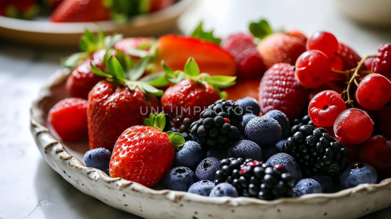
[[[48,123],[64,141],[79,141],[87,136],[87,101],[66,98],[50,109]]]

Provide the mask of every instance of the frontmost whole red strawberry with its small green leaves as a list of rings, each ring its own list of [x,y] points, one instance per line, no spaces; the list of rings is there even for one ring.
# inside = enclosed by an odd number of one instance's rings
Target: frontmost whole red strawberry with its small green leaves
[[[174,149],[185,139],[176,132],[162,132],[165,116],[151,114],[144,125],[127,128],[119,137],[111,155],[111,177],[151,187],[160,182],[174,162]]]

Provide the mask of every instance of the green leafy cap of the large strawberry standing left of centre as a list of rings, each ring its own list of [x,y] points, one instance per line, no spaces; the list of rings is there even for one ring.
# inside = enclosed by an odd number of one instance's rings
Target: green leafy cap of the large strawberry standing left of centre
[[[142,59],[135,64],[134,68],[139,68],[138,66],[140,66],[140,64],[138,63],[140,62],[142,62]],[[137,81],[141,77],[143,71],[140,73],[139,69],[131,68],[127,73],[125,73],[121,63],[113,55],[107,59],[107,72],[98,69],[92,64],[92,62],[90,62],[90,66],[93,73],[102,77],[106,77],[106,79],[110,82],[117,82],[120,85],[127,86],[131,90],[134,90],[136,87],[138,87],[138,89],[140,89],[143,93],[152,93],[156,96],[161,96],[163,94],[163,91],[148,84],[148,82],[141,80]],[[127,79],[126,75],[129,75],[130,79]]]

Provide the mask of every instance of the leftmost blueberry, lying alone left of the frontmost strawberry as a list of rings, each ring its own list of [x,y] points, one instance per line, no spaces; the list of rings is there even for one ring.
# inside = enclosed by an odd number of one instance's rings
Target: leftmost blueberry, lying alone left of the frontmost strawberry
[[[84,165],[100,170],[109,168],[111,152],[107,148],[94,148],[84,154]]]

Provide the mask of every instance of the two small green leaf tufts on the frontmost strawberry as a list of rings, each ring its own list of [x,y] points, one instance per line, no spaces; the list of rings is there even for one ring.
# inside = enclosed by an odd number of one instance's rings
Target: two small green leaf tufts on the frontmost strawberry
[[[144,119],[144,125],[163,131],[166,125],[166,116],[164,115],[163,112],[159,114],[151,113],[149,114],[149,118]],[[185,139],[183,138],[183,135],[178,132],[168,131],[165,132],[165,134],[167,134],[175,149],[177,149],[178,147],[182,146],[183,143],[185,143]]]

